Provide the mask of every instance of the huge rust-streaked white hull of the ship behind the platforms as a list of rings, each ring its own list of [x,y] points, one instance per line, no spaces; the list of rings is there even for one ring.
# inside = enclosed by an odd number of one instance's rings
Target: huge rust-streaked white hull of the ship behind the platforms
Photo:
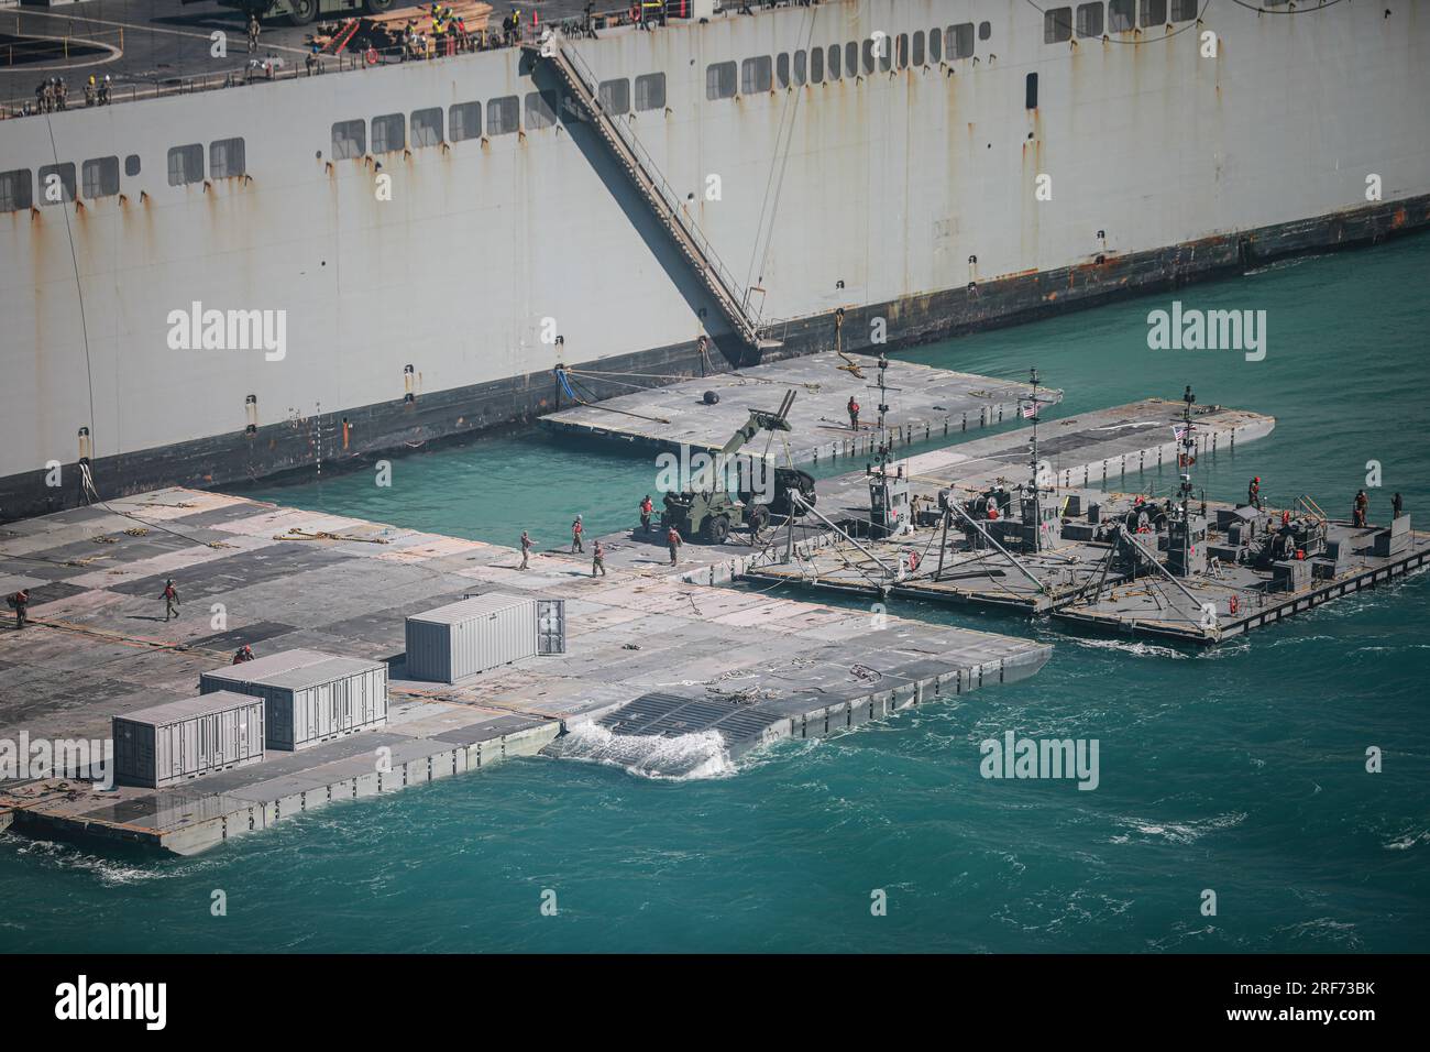
[[[972,56],[925,47],[901,67],[902,34],[965,21],[990,26]],[[766,359],[927,341],[1430,222],[1430,23],[1414,6],[1227,4],[1055,43],[1044,29],[1020,0],[835,0],[573,46],[601,80],[665,74],[665,104],[631,129],[755,289],[778,341]],[[706,97],[712,63],[877,33],[888,70]],[[628,389],[619,374],[751,361],[575,110],[332,155],[336,122],[469,100],[485,119],[492,99],[541,90],[556,90],[541,60],[511,49],[0,125],[0,170],[140,159],[116,196],[0,213],[0,515],[83,500],[80,452],[104,495],[222,485],[548,411],[556,365],[601,395]],[[169,185],[170,147],[230,137],[245,176]],[[193,303],[285,312],[282,359],[176,349],[170,316]]]

